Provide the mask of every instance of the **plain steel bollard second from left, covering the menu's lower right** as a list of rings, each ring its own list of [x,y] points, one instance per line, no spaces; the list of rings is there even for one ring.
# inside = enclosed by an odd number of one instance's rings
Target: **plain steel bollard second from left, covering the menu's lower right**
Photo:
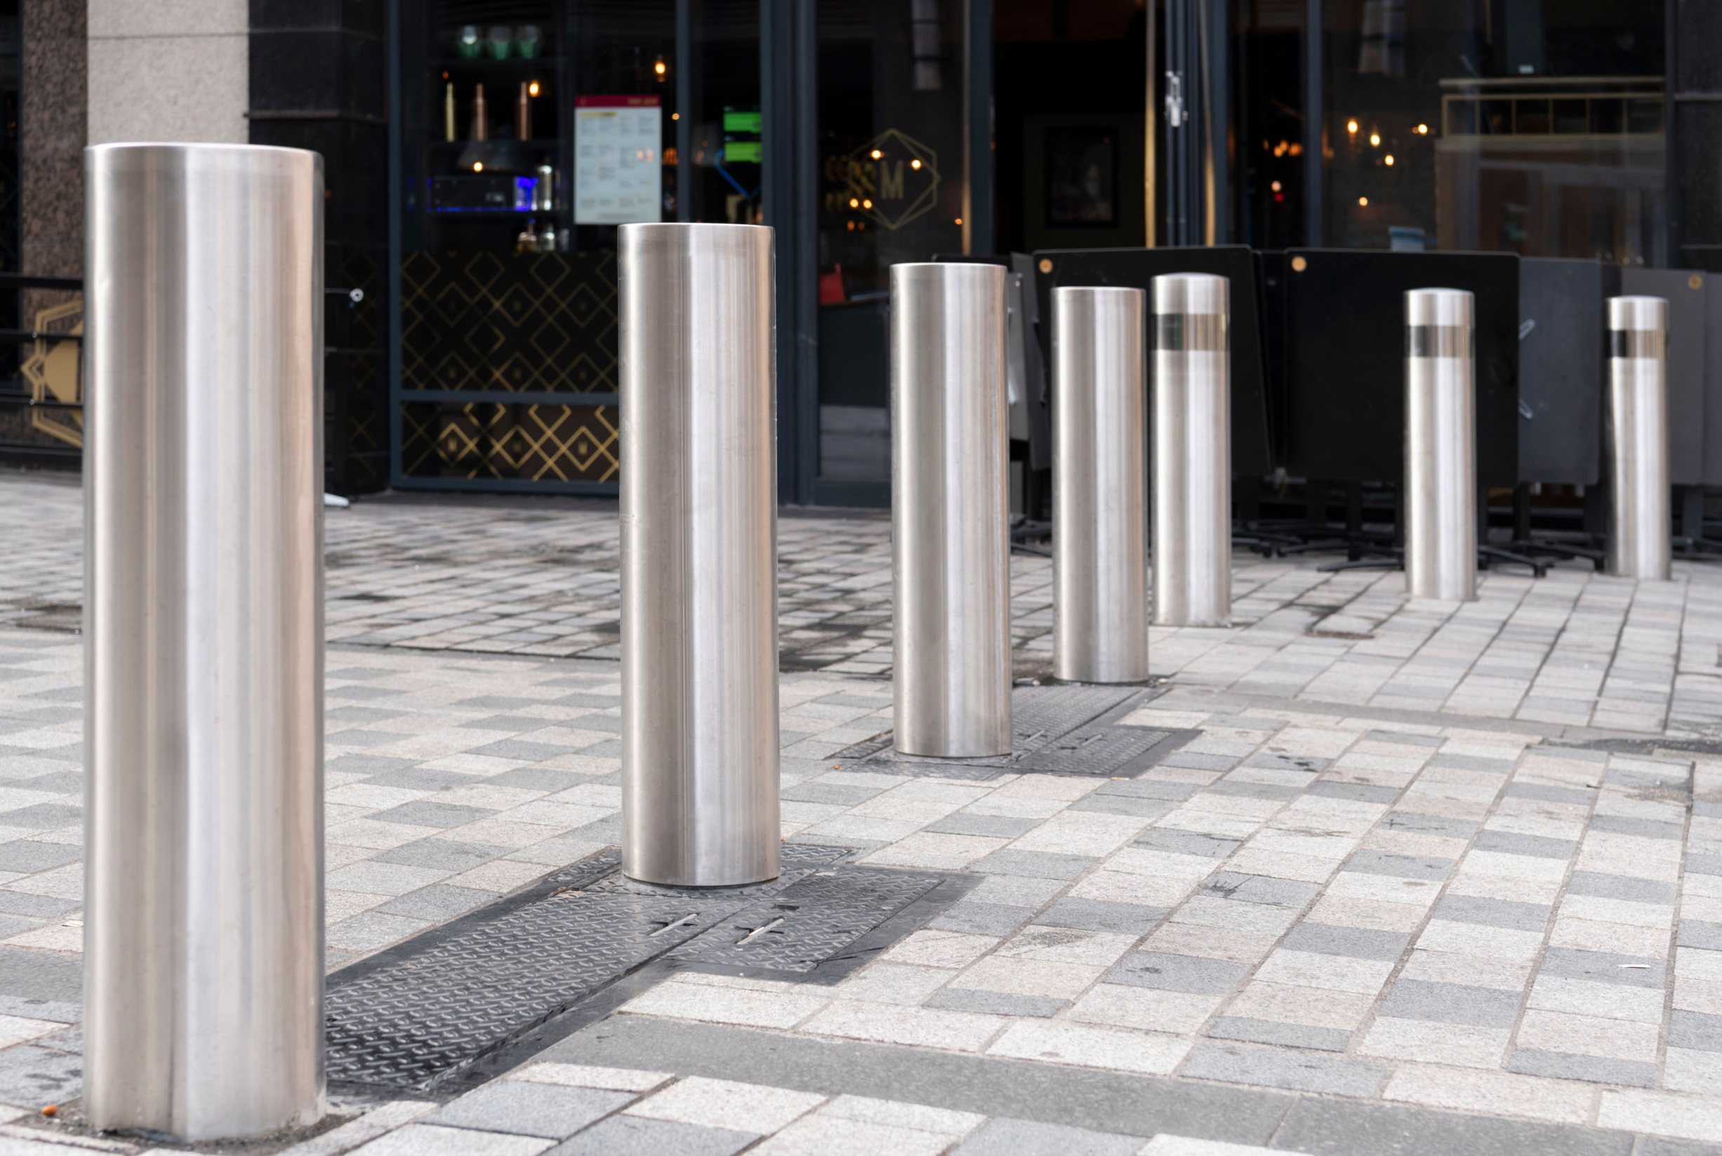
[[[625,224],[622,870],[777,879],[773,236]]]

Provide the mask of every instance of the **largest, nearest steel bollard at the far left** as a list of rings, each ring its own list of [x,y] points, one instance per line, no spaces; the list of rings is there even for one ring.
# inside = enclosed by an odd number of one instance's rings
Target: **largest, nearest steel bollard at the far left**
[[[324,1113],[322,158],[84,150],[84,1106]]]

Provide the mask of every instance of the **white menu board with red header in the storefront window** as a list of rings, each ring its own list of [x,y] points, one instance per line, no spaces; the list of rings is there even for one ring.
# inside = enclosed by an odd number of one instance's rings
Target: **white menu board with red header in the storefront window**
[[[577,96],[573,222],[663,219],[663,109],[658,96]]]

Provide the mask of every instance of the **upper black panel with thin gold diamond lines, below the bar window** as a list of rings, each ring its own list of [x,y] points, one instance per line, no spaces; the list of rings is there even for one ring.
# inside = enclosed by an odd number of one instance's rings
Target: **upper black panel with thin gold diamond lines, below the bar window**
[[[608,253],[412,253],[401,389],[616,391]]]

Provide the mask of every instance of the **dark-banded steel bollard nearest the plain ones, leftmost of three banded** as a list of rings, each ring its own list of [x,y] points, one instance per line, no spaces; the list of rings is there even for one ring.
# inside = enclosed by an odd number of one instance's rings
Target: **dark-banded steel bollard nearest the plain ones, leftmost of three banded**
[[[1154,279],[1154,622],[1231,622],[1231,353],[1224,277]]]

